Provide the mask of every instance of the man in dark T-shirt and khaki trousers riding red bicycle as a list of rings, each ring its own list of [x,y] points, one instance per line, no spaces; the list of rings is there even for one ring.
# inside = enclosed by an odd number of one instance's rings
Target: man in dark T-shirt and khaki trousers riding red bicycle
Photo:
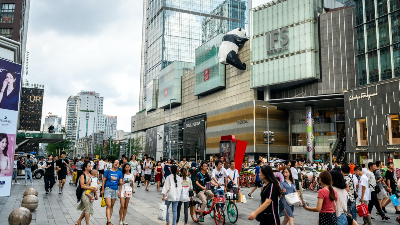
[[[206,173],[207,171],[207,163],[206,161],[203,161],[200,163],[200,172],[196,174],[196,193],[197,193],[197,197],[202,201],[201,207],[200,207],[200,217],[199,217],[199,221],[200,222],[204,222],[204,217],[203,217],[203,212],[204,209],[206,209],[207,206],[207,201],[210,200],[212,198],[212,191],[210,189],[206,188],[206,183],[210,182],[212,185],[214,186],[219,186],[218,184],[214,183],[211,179],[210,179],[210,175],[208,175],[208,173]]]

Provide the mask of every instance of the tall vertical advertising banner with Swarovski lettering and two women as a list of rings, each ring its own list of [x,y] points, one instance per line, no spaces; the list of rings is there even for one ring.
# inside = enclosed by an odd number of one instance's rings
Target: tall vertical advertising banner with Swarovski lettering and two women
[[[0,60],[0,197],[10,196],[22,65]]]

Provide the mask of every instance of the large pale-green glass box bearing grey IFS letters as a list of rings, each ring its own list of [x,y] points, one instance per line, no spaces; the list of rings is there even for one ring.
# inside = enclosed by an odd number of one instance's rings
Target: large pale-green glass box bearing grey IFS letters
[[[319,78],[318,8],[287,0],[250,10],[251,88]]]

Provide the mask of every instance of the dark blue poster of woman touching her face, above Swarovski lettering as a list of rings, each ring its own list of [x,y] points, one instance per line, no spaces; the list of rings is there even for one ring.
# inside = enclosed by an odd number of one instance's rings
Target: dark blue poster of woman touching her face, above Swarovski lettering
[[[0,108],[18,111],[21,68],[19,64],[2,60],[0,66]]]

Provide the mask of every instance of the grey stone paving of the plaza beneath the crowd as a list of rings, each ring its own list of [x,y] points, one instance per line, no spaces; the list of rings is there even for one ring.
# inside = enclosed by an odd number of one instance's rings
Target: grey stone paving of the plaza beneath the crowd
[[[30,185],[28,181],[28,185],[24,185],[24,179],[18,179],[18,182],[22,185],[12,185],[12,191],[10,197],[2,197],[1,198],[1,212],[0,212],[0,221],[1,225],[8,224],[8,215],[15,208],[20,207],[22,195],[27,188],[33,187],[38,191],[39,198],[39,207],[32,212],[32,223],[31,225],[73,225],[74,222],[78,219],[80,213],[82,211],[76,210],[76,196],[75,196],[75,185],[68,185],[66,183],[64,187],[64,193],[58,194],[58,186],[53,187],[53,191],[49,194],[45,194],[44,191],[44,180],[34,179],[35,185]],[[58,185],[58,181],[57,181]],[[137,185],[137,183],[136,183]],[[160,221],[157,219],[158,215],[158,205],[162,202],[162,194],[160,191],[156,191],[156,186],[151,185],[149,187],[150,191],[144,191],[144,185],[140,185],[141,187],[136,187],[134,190],[136,193],[132,193],[132,199],[130,199],[130,204],[128,208],[128,213],[126,215],[126,221],[128,224],[141,224],[141,225],[156,225],[156,224],[166,224],[165,221]],[[243,188],[242,193],[246,195],[250,192],[250,188]],[[306,200],[310,203],[311,207],[316,205],[317,201],[317,193],[312,191],[304,192]],[[195,197],[195,199],[198,199]],[[253,199],[247,198],[247,203],[237,203],[239,218],[236,224],[238,225],[256,225],[259,224],[257,221],[249,221],[247,220],[248,215],[254,211],[260,205],[260,190],[256,190],[253,194]],[[117,199],[114,205],[114,213],[112,215],[111,222],[114,225],[118,225],[119,222],[119,208],[120,203]],[[90,225],[105,225],[106,224],[106,216],[105,216],[105,207],[100,206],[100,199],[94,202],[94,215],[90,216]],[[171,210],[171,209],[170,209]],[[372,221],[374,225],[379,224],[397,224],[395,221],[396,215],[394,214],[394,208],[386,207],[388,211],[387,216],[392,219],[388,222],[380,221],[379,217],[375,217],[376,220]],[[372,210],[372,215],[375,214],[375,209]],[[170,211],[171,220],[172,213]],[[311,213],[305,211],[302,208],[296,207],[294,210],[294,224],[296,225],[314,225],[317,224],[318,213]],[[184,213],[183,208],[181,212],[181,219],[179,221],[180,225],[184,224]],[[281,221],[283,217],[281,217]],[[359,224],[362,224],[362,219],[358,217]],[[228,217],[226,217],[226,224],[229,224],[230,221]],[[84,223],[84,220],[82,221]],[[172,224],[172,223],[171,223]],[[192,221],[190,215],[188,224],[196,224]],[[199,223],[202,225],[212,225],[214,223],[214,219],[212,219],[209,215],[204,217],[204,223]]]

